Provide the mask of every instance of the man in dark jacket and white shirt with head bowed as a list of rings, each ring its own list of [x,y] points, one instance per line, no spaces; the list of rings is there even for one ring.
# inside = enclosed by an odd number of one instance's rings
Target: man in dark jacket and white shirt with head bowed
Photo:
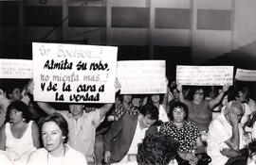
[[[149,134],[148,128],[158,120],[158,114],[154,105],[141,107],[136,115],[124,113],[104,136],[104,161],[117,164],[136,161],[137,144]]]

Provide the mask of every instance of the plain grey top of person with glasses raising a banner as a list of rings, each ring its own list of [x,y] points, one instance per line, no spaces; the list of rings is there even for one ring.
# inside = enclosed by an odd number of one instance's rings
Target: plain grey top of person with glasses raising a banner
[[[210,101],[203,100],[200,105],[196,105],[193,101],[188,101],[189,120],[194,122],[199,131],[208,131],[209,124],[212,120],[212,112],[210,110]]]

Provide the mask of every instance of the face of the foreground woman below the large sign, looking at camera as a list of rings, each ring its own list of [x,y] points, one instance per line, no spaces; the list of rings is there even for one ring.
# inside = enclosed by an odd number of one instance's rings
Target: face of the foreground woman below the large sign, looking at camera
[[[62,130],[55,122],[46,122],[43,124],[41,135],[44,147],[48,152],[58,151],[64,144]]]

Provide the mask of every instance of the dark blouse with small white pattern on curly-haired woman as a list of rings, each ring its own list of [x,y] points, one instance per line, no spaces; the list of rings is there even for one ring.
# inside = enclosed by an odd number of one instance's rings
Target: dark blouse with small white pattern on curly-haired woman
[[[196,149],[196,139],[199,137],[197,126],[192,121],[184,121],[178,128],[173,121],[160,125],[159,133],[171,136],[179,142],[178,151],[185,153]]]

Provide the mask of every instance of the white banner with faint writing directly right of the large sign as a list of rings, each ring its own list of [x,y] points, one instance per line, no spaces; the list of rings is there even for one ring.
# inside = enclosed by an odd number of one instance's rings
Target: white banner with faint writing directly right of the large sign
[[[165,93],[165,60],[118,61],[121,94]]]

